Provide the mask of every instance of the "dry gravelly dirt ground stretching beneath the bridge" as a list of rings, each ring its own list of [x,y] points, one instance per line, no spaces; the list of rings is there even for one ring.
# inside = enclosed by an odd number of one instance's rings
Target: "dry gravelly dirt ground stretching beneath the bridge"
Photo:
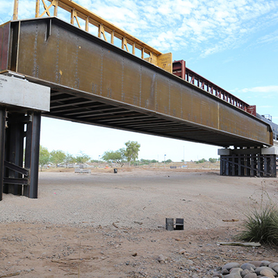
[[[0,202],[0,277],[197,278],[229,261],[278,261],[271,247],[219,245],[277,192],[277,178],[206,169],[40,172],[38,199]],[[184,230],[165,230],[165,218],[184,218]]]

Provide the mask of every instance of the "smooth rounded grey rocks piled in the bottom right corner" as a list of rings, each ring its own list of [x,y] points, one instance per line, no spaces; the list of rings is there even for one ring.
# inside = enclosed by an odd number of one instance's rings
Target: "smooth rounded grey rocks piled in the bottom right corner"
[[[270,261],[250,261],[249,263],[226,263],[213,277],[219,278],[275,278],[278,276],[278,263]]]

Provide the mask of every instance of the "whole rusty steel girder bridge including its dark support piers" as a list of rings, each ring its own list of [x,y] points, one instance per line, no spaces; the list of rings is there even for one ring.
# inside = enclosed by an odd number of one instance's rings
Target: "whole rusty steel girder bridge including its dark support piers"
[[[8,22],[0,47],[2,76],[50,88],[48,111],[0,103],[0,195],[38,197],[40,115],[234,146],[243,152],[222,154],[221,174],[276,177],[276,151],[263,154],[273,145],[267,121],[72,24],[57,17]]]

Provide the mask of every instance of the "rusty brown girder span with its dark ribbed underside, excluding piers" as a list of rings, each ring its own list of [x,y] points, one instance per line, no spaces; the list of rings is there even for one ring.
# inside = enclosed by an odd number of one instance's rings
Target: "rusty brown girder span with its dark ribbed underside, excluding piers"
[[[50,117],[213,145],[272,145],[268,124],[57,18],[20,22],[14,60],[19,73],[52,86]],[[94,112],[94,101],[111,113]]]

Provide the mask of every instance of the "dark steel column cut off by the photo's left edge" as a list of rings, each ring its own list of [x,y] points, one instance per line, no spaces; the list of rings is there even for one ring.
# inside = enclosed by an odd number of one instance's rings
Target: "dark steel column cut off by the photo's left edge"
[[[0,201],[3,195],[6,108],[0,106]]]

